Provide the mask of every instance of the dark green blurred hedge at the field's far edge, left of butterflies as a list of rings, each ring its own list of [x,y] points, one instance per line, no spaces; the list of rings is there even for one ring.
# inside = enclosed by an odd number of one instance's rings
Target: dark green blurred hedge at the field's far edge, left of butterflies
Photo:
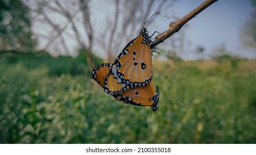
[[[90,74],[84,53],[81,53],[75,58],[69,56],[58,56],[57,58],[53,58],[46,52],[40,55],[35,55],[33,53],[25,55],[6,53],[2,54],[2,56],[2,62],[7,65],[21,64],[28,70],[45,68],[48,70],[47,74],[49,76],[60,76],[62,74]],[[97,64],[103,62],[95,55],[93,55],[93,59]]]

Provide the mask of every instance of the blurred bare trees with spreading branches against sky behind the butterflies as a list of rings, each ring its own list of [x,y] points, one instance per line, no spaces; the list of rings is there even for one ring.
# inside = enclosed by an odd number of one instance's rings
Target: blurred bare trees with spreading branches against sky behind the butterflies
[[[149,16],[170,8],[173,1],[42,0],[27,3],[33,11],[37,28],[42,28],[37,34],[44,38],[44,42],[47,40],[45,49],[54,48],[54,51],[59,51],[57,54],[65,51],[66,55],[71,55],[74,52],[69,45],[77,44],[93,68],[93,50],[103,50],[101,53],[105,53],[110,61],[139,34],[142,23]]]

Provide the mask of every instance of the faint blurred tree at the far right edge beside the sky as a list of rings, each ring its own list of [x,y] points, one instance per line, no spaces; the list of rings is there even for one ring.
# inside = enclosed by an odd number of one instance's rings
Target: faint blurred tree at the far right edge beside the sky
[[[240,32],[242,43],[245,48],[256,49],[256,0],[252,0],[254,11],[243,24]],[[256,50],[255,50],[256,51]]]

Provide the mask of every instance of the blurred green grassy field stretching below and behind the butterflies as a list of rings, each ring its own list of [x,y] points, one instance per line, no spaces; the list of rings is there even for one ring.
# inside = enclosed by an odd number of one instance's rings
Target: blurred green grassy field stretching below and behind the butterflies
[[[2,54],[0,143],[256,143],[256,60],[153,66],[160,101],[149,132],[151,108],[105,94],[83,55]]]

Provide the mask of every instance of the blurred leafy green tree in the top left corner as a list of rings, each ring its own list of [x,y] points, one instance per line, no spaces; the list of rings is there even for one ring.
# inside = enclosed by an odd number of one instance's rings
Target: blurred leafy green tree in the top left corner
[[[33,52],[37,40],[31,31],[29,8],[21,0],[0,0],[0,53]]]

